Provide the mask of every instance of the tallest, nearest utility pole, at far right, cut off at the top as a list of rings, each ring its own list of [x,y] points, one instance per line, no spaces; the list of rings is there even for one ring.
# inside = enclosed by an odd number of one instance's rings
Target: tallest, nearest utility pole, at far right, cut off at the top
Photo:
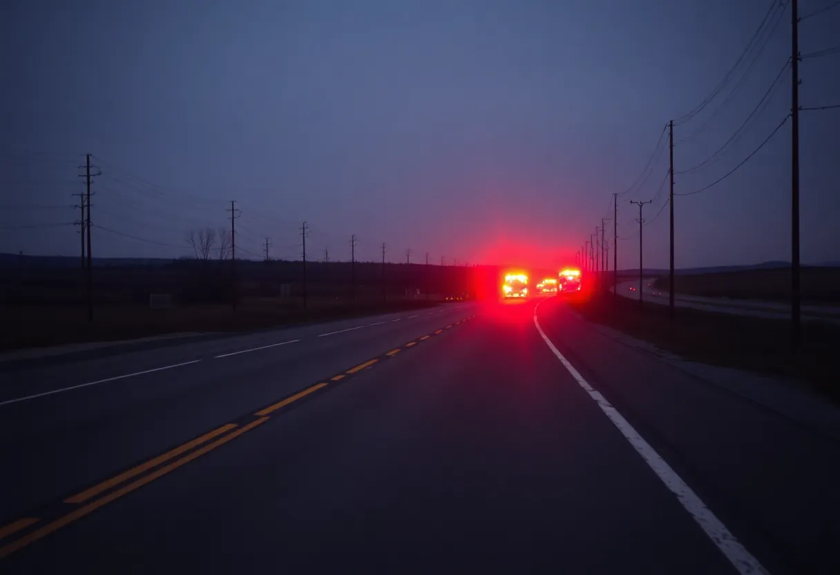
[[[790,330],[798,350],[801,339],[799,263],[799,2],[790,0]]]

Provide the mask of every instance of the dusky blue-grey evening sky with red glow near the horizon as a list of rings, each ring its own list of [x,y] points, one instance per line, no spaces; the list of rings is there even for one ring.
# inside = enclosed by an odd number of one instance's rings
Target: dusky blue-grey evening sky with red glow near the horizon
[[[801,14],[829,3],[803,0]],[[90,152],[102,168],[94,223],[167,244],[96,229],[96,256],[183,255],[185,230],[225,225],[236,199],[237,242],[257,256],[265,236],[273,256],[299,256],[306,219],[314,258],[328,246],[349,259],[357,234],[363,260],[386,241],[392,261],[411,248],[413,261],[559,265],[612,216],[611,194],[637,179],[664,124],[722,81],[771,4],[7,0],[0,227],[76,219],[61,206],[81,191],[76,165]],[[677,172],[720,148],[785,65],[790,7],[770,14],[722,92],[675,129]],[[837,29],[840,8],[803,20],[801,52],[840,44]],[[801,77],[802,106],[840,103],[840,54],[804,59]],[[677,193],[769,135],[790,109],[789,71],[776,88],[717,161],[677,174]],[[806,262],[840,260],[838,134],[840,109],[802,113]],[[619,202],[620,266],[638,261],[627,200],[657,198],[653,218],[667,166],[663,147]],[[650,266],[667,266],[667,214],[644,229]],[[677,198],[675,214],[678,266],[788,259],[790,121],[731,177]],[[69,225],[0,229],[0,251],[76,255],[77,244]]]

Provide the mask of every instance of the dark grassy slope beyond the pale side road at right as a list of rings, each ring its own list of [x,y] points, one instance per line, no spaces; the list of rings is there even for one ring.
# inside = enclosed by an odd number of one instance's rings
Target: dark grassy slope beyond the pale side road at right
[[[709,298],[788,301],[790,269],[748,270],[675,276],[676,293]],[[668,289],[668,277],[659,277],[654,286]],[[803,267],[802,300],[823,305],[840,304],[840,268]]]

